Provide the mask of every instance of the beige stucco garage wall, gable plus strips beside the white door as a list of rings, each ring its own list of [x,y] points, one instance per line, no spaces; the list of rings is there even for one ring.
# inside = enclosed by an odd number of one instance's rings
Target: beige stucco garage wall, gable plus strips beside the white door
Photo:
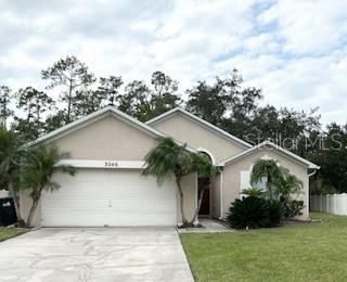
[[[61,151],[69,152],[70,158],[75,159],[143,161],[146,153],[156,145],[156,140],[155,137],[146,134],[113,115],[105,115],[97,121],[49,142],[47,145],[50,144],[59,146]],[[183,179],[184,210],[188,218],[192,218],[194,215],[195,182],[195,175]],[[25,219],[30,206],[31,200],[28,193],[22,193],[21,213]],[[39,204],[33,226],[40,226],[40,209],[41,205]],[[178,219],[180,219],[179,208],[177,210]]]

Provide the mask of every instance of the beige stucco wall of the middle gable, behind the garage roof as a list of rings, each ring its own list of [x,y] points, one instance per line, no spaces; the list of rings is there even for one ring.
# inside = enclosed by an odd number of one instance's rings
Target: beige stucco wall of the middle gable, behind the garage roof
[[[152,125],[153,128],[168,134],[196,150],[208,150],[216,162],[226,159],[245,150],[234,141],[227,140],[192,119],[176,114]]]

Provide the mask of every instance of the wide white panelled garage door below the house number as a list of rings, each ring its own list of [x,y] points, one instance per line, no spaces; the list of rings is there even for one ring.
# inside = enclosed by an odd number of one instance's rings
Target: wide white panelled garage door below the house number
[[[61,189],[42,194],[44,227],[175,226],[174,181],[163,185],[139,170],[82,169],[57,175]]]

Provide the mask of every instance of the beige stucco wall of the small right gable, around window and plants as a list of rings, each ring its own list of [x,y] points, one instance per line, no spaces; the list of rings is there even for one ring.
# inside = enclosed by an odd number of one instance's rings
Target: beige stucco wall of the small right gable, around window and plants
[[[309,178],[307,176],[307,168],[301,164],[296,163],[293,158],[279,153],[274,150],[258,150],[253,154],[235,162],[223,168],[223,217],[227,216],[230,204],[237,197],[240,197],[240,172],[242,170],[249,170],[252,164],[257,159],[268,156],[279,161],[279,163],[290,169],[291,174],[295,175],[298,179],[303,181],[303,193],[298,195],[297,200],[303,200],[305,203],[305,208],[303,210],[303,216],[299,219],[309,218]]]

